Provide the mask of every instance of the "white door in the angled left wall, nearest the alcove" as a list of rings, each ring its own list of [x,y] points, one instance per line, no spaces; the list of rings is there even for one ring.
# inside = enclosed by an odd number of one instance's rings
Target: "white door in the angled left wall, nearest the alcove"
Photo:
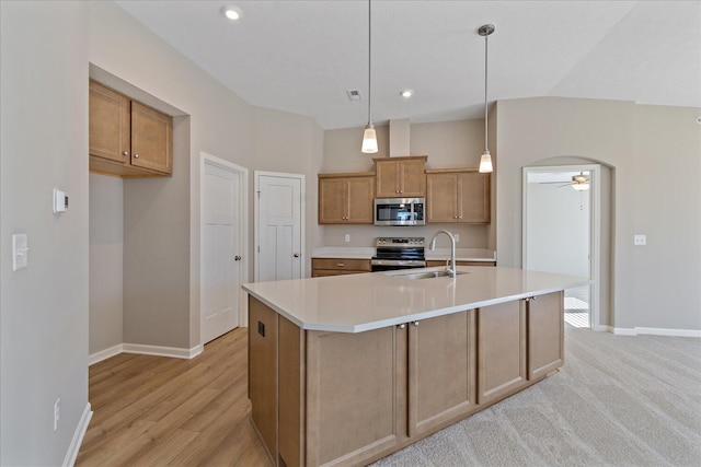
[[[203,154],[202,343],[239,326],[248,171]]]

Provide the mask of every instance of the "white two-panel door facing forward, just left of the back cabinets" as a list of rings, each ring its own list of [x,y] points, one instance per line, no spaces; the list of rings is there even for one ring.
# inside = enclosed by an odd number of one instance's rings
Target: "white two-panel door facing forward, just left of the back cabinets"
[[[300,279],[304,176],[255,173],[255,281]]]

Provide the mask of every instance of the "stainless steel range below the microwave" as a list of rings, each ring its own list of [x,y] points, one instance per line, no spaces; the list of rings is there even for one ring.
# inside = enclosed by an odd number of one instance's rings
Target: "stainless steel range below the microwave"
[[[424,237],[380,236],[375,240],[375,248],[372,272],[426,267]]]

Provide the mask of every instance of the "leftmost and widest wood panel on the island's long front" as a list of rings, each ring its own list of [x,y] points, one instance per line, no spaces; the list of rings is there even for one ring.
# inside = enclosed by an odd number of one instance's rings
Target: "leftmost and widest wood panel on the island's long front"
[[[365,465],[406,439],[406,329],[307,331],[309,466]]]

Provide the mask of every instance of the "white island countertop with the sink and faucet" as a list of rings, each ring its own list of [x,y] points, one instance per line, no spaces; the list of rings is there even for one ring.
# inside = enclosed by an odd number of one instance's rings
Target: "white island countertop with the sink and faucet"
[[[589,283],[581,277],[513,268],[461,266],[458,270],[464,273],[457,278],[415,280],[387,271],[242,288],[302,329],[361,332]]]

